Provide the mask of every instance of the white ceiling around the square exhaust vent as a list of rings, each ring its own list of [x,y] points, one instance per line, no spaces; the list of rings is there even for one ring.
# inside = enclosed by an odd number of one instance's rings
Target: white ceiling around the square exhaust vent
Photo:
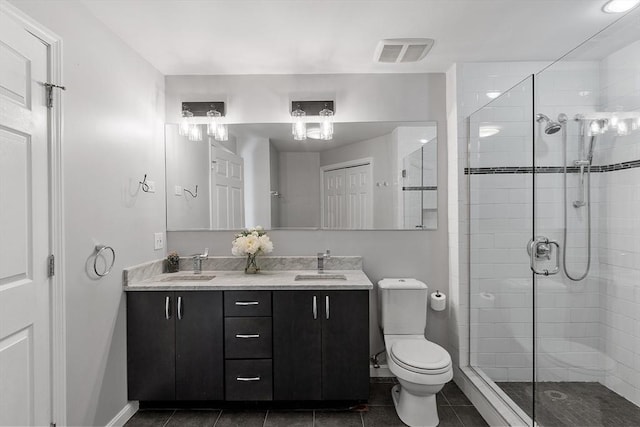
[[[605,0],[82,0],[165,75],[444,72],[553,60],[619,18]],[[383,38],[436,40],[417,63],[373,61]]]

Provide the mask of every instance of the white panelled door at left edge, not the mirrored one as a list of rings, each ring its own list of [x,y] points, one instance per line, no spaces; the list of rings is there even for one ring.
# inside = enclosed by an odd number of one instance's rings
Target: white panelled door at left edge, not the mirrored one
[[[51,421],[47,47],[0,8],[0,425]]]

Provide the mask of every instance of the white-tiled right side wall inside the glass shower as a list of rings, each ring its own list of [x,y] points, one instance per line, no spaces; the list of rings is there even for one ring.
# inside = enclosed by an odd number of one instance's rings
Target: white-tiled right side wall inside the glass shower
[[[602,111],[640,111],[640,42],[601,62]],[[638,123],[640,127],[640,123]],[[597,164],[640,160],[640,130],[608,134]],[[640,168],[600,174],[600,334],[604,384],[640,405]]]

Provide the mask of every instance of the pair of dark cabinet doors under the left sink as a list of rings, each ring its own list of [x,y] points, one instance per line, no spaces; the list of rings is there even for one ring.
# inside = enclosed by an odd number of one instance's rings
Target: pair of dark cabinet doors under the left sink
[[[128,292],[129,400],[222,400],[222,292]]]

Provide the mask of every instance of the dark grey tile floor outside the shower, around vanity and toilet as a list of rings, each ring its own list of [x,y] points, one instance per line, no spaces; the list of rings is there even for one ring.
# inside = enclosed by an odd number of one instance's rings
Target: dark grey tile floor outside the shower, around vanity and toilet
[[[367,410],[230,411],[140,410],[126,427],[395,427],[404,426],[391,400],[394,383],[372,382]],[[455,383],[438,393],[440,427],[484,427],[488,424]]]

